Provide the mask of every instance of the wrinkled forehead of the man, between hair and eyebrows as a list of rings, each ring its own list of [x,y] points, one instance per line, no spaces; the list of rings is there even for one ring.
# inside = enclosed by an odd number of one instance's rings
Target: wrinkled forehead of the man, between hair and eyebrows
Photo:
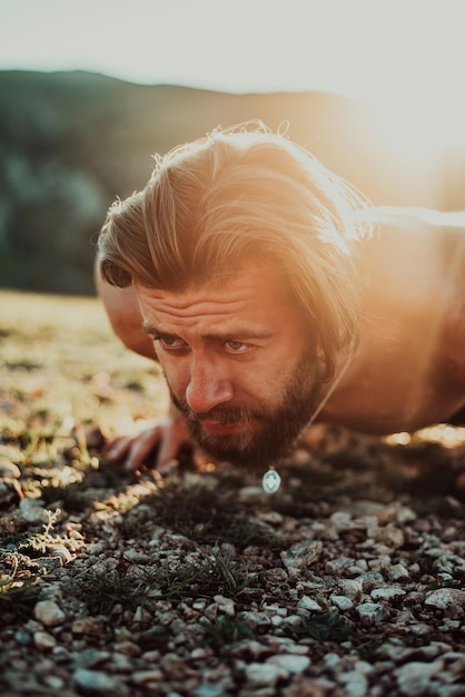
[[[289,325],[299,312],[283,276],[270,264],[245,264],[239,272],[182,291],[136,285],[146,322],[196,327],[234,328],[235,323]]]

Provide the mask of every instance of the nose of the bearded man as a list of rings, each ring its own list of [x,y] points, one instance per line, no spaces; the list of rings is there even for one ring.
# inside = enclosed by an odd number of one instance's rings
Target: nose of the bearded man
[[[186,401],[190,409],[204,414],[214,406],[229,402],[233,395],[231,382],[220,365],[192,361],[186,389]]]

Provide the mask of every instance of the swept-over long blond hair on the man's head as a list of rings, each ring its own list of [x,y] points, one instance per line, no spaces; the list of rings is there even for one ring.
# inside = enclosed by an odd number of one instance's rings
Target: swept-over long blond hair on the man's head
[[[156,157],[142,192],[109,209],[98,246],[110,284],[181,291],[240,268],[276,265],[332,376],[355,345],[359,281],[352,248],[367,230],[352,186],[260,121],[220,128]]]

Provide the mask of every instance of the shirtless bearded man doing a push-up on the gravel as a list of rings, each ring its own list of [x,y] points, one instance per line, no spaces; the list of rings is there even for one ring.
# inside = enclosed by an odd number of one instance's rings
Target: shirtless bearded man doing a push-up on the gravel
[[[164,423],[116,439],[130,469],[194,439],[265,468],[309,422],[412,431],[465,405],[465,214],[370,208],[264,125],[157,159],[108,214],[97,285],[161,364]]]

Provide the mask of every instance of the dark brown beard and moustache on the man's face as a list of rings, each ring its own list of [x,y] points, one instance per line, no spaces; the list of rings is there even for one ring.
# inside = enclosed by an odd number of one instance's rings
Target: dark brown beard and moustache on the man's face
[[[246,468],[264,468],[285,458],[308,424],[316,409],[321,382],[315,354],[306,356],[294,370],[279,401],[273,406],[218,405],[199,414],[168,389],[175,406],[186,420],[196,443],[212,459]],[[221,424],[245,424],[238,433],[216,435],[206,431],[204,420]]]

